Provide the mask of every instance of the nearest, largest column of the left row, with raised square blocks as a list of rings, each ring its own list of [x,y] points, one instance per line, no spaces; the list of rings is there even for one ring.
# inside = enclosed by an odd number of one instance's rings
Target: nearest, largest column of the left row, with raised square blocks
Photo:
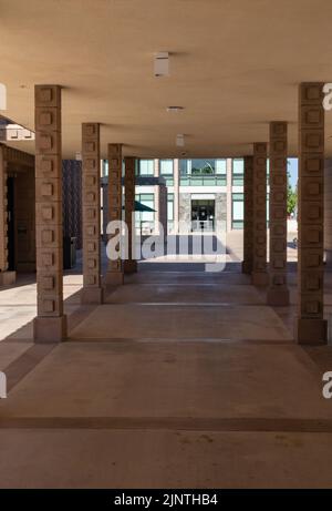
[[[61,86],[35,85],[37,343],[66,337],[62,275]]]

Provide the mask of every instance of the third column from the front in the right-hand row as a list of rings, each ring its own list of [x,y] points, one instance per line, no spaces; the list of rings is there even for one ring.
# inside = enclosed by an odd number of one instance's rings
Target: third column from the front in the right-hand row
[[[267,144],[253,144],[252,274],[255,286],[268,284],[267,273]]]

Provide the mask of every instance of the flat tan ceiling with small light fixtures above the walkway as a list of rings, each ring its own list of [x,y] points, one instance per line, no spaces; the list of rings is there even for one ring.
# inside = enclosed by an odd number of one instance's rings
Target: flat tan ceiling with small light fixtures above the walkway
[[[298,84],[332,81],[331,20],[331,0],[0,0],[3,114],[33,130],[34,84],[60,84],[63,157],[82,122],[102,124],[103,156],[122,142],[126,155],[214,157],[250,154],[270,121],[289,122],[294,156]],[[169,76],[154,78],[157,51]],[[325,125],[331,156],[332,111]]]

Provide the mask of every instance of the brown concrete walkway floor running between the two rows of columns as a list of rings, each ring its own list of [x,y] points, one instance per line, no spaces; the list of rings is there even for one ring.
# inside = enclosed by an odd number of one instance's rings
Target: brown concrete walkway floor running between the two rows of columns
[[[1,324],[0,488],[332,487],[331,347],[293,343],[295,276],[272,309],[238,266],[139,266],[97,307],[66,276],[58,346],[32,344],[33,283],[0,293],[27,320]]]

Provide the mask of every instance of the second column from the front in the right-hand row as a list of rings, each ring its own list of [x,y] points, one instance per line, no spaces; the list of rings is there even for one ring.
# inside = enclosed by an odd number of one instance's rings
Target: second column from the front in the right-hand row
[[[270,123],[269,305],[288,305],[287,287],[287,122]]]

